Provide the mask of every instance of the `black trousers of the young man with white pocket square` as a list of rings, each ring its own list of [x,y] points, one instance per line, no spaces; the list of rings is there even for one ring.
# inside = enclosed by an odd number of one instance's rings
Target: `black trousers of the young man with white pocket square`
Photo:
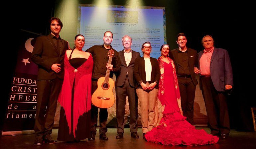
[[[183,115],[187,117],[190,124],[194,124],[194,99],[195,88],[191,77],[178,77],[179,88],[181,93],[181,108]]]

